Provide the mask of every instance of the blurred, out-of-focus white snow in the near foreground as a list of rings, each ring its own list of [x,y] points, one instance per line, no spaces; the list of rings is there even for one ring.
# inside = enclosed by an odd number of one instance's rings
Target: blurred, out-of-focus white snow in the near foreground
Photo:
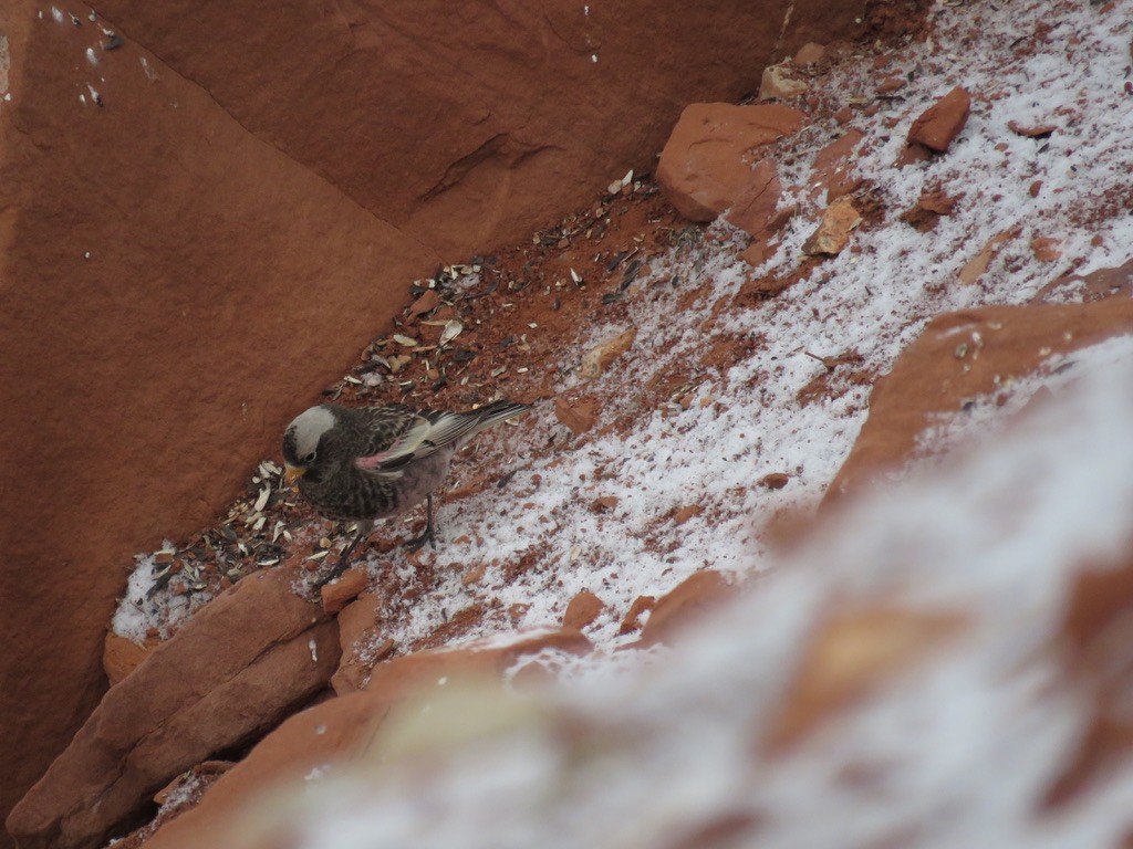
[[[1133,338],[1081,352],[1074,371],[1058,403],[1005,437],[774,558],[756,591],[663,662],[622,660],[613,674],[591,662],[534,705],[501,696],[485,712],[512,719],[470,720],[463,745],[343,767],[286,817],[296,844],[698,844],[722,820],[747,829],[738,844],[768,849],[895,835],[910,847],[1116,844],[1133,804],[1127,758],[1039,813],[1091,719],[1088,691],[1066,686],[1053,650],[1071,580],[1080,564],[1122,563],[1133,540]],[[798,746],[765,754],[800,648],[835,602],[963,611],[964,627]],[[444,706],[432,713],[451,739]],[[573,730],[556,734],[563,723]]]

